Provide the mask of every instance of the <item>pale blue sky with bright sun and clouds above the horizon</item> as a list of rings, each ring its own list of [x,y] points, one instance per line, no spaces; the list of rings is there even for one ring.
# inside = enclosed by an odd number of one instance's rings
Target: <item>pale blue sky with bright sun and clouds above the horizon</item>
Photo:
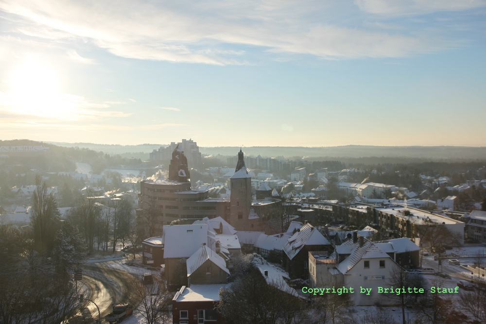
[[[0,139],[486,146],[486,0],[0,0]]]

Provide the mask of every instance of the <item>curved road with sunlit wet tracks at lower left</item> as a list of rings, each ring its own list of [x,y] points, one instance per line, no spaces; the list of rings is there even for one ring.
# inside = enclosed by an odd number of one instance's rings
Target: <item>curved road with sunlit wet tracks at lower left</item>
[[[107,261],[109,262],[109,261]],[[103,262],[83,266],[83,282],[89,288],[89,299],[100,307],[101,317],[111,312],[113,304],[128,301],[129,282],[133,276],[120,270],[103,266]],[[98,310],[93,303],[87,308],[93,319],[98,318]]]

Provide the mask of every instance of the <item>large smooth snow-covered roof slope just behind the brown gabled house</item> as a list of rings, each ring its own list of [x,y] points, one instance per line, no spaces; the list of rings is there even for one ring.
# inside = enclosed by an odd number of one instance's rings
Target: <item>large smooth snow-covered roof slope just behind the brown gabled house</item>
[[[192,256],[208,243],[208,224],[164,225],[164,258]]]

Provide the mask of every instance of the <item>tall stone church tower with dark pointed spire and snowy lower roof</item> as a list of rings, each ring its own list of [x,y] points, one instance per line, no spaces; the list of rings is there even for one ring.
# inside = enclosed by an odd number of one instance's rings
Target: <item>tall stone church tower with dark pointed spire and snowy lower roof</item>
[[[231,184],[229,223],[237,231],[251,231],[249,221],[252,200],[251,176],[244,165],[243,151],[241,149],[238,153],[235,174],[229,179]]]

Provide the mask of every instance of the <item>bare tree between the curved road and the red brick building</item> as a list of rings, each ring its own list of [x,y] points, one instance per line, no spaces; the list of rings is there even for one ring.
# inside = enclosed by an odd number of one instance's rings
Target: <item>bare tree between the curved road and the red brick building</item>
[[[147,324],[172,322],[172,316],[169,314],[172,296],[160,279],[154,278],[153,284],[145,285],[141,276],[135,276],[130,281],[129,300]]]

